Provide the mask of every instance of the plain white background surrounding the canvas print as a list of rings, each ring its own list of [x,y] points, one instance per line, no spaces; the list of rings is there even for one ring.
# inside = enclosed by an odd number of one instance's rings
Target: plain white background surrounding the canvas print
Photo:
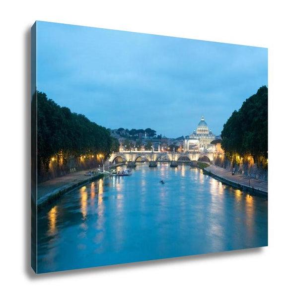
[[[284,3],[278,0],[2,1],[2,304],[284,304],[287,301],[287,153],[283,151],[288,145],[282,139],[286,138],[284,124],[288,121],[288,22]],[[29,29],[36,19],[268,47],[269,247],[35,276],[28,266],[28,153]]]

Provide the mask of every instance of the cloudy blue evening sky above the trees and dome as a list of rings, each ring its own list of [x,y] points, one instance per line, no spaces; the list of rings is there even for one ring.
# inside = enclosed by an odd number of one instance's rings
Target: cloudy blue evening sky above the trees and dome
[[[37,21],[37,89],[107,128],[218,135],[268,85],[268,49]]]

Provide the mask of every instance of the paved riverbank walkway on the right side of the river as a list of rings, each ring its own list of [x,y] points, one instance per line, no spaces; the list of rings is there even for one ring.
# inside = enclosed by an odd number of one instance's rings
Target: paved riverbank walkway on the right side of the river
[[[205,172],[212,174],[218,180],[222,180],[224,183],[230,184],[232,186],[243,186],[246,189],[259,190],[264,194],[268,194],[268,182],[260,179],[249,178],[242,174],[232,173],[221,167],[210,165],[205,168]]]

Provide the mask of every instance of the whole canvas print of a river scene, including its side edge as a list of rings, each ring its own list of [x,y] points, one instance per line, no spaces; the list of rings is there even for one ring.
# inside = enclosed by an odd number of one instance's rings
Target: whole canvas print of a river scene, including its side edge
[[[268,50],[37,21],[36,273],[268,245]]]

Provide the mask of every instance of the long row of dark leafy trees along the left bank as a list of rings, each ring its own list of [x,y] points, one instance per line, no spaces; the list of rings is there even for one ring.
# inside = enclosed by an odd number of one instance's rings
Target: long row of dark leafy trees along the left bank
[[[36,102],[36,94],[32,103]],[[41,165],[49,170],[51,158],[103,154],[119,151],[119,142],[110,132],[85,116],[72,113],[67,107],[60,107],[37,91],[37,157],[38,170]]]

